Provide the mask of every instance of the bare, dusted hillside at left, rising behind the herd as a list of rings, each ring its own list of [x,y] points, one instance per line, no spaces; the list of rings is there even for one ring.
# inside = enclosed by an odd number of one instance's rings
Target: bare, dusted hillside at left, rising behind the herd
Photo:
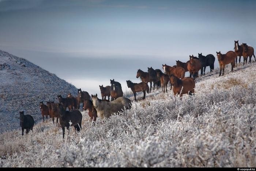
[[[39,101],[77,94],[72,84],[39,66],[0,50],[0,132],[19,128],[19,111],[41,121]]]

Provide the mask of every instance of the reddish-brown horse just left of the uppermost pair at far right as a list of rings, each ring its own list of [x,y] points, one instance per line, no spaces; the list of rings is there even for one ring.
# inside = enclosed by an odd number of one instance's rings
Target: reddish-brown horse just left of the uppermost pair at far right
[[[234,51],[229,51],[226,54],[221,54],[221,51],[216,53],[219,61],[219,76],[221,76],[221,70],[223,71],[222,75],[224,75],[224,68],[227,64],[231,64],[231,71],[233,71],[233,68],[235,66],[236,53]]]

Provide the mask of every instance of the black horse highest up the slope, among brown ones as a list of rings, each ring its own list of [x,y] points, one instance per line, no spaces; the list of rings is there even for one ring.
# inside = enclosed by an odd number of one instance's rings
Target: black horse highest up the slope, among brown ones
[[[212,54],[208,54],[206,56],[203,56],[202,53],[201,54],[198,53],[198,57],[199,57],[199,61],[200,61],[201,65],[202,65],[202,67],[201,67],[201,76],[205,75],[206,66],[210,66],[210,72],[213,72],[215,57]]]

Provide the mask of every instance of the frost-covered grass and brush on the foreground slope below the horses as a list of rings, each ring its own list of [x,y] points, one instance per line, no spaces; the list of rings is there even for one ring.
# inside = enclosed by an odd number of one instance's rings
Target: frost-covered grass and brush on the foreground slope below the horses
[[[2,167],[256,167],[256,64],[199,77],[182,100],[155,90],[82,131],[38,123],[0,135]],[[168,87],[169,90],[169,87]],[[125,92],[131,100],[133,95]],[[142,94],[137,95],[142,98]]]

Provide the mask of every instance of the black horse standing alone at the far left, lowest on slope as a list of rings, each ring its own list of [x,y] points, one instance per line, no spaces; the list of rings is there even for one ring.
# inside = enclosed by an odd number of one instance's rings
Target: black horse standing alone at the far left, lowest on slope
[[[29,133],[29,130],[33,131],[33,126],[35,121],[31,115],[24,115],[24,111],[20,111],[19,119],[20,119],[20,127],[22,130],[22,136],[24,133],[24,129],[26,129],[26,134]]]

